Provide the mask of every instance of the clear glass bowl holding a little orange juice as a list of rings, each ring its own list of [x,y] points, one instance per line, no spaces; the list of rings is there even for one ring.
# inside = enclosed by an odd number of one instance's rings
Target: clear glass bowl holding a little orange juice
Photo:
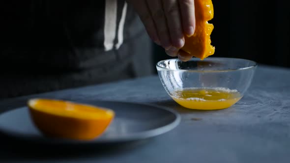
[[[156,64],[159,78],[175,102],[189,109],[225,109],[249,88],[257,63],[247,59],[207,57]]]

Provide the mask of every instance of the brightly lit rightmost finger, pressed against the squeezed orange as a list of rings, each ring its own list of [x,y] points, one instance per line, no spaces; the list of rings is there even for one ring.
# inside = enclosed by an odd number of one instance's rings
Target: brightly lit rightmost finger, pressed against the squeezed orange
[[[178,0],[182,27],[185,34],[189,37],[194,34],[196,27],[194,0]]]

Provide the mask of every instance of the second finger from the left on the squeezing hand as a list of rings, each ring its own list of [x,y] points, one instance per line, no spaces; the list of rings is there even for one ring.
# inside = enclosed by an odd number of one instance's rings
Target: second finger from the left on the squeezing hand
[[[167,27],[166,17],[163,12],[162,3],[160,0],[147,0],[147,5],[151,12],[151,16],[153,18],[155,27],[157,28],[157,33],[158,33],[161,45],[166,50],[169,50],[172,46],[172,43],[169,36],[169,30]]]

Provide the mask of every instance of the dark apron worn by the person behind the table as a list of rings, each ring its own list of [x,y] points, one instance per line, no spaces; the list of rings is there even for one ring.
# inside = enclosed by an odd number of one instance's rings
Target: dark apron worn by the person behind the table
[[[130,5],[123,43],[105,51],[105,0],[14,1],[1,2],[0,99],[153,73],[151,42]],[[116,30],[124,4],[117,0]]]

